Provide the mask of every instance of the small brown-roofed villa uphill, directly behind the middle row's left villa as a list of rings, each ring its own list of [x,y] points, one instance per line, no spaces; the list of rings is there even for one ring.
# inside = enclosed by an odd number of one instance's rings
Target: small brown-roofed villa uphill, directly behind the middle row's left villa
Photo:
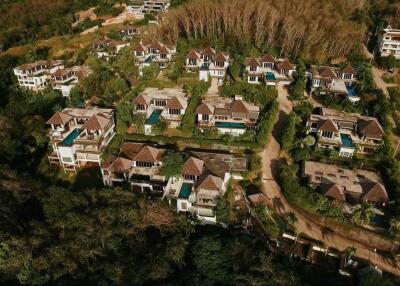
[[[176,54],[176,47],[166,45],[160,41],[154,41],[148,44],[142,40],[134,47],[135,65],[139,67],[139,74],[143,75],[143,68],[150,66],[151,63],[157,63],[160,69],[164,69]]]

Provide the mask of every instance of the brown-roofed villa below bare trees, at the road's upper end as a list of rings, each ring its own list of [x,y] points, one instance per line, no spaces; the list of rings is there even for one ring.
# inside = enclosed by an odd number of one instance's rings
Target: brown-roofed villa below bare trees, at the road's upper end
[[[278,82],[290,84],[296,66],[287,59],[276,59],[272,55],[259,58],[248,58],[245,62],[247,82],[253,84],[265,83],[267,86],[277,86]]]

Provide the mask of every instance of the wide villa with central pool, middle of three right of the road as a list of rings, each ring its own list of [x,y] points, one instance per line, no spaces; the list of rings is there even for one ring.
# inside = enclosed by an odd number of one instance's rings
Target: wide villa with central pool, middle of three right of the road
[[[374,153],[383,144],[384,130],[378,120],[356,113],[320,108],[307,121],[310,133],[317,136],[320,148],[337,149],[339,156]]]

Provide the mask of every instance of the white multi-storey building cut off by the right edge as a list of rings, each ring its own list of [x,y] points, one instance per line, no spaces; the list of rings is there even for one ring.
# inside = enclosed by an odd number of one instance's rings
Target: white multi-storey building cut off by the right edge
[[[381,56],[393,55],[400,59],[400,30],[387,26],[379,35],[379,51]]]

